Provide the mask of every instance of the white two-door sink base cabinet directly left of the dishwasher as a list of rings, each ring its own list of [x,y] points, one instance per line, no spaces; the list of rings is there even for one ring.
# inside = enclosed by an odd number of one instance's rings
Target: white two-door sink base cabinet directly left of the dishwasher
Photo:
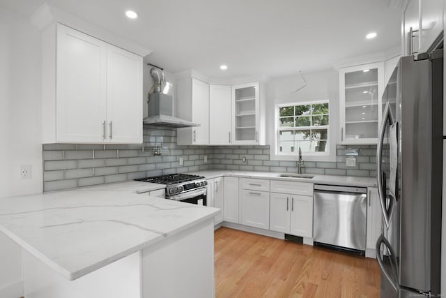
[[[270,230],[312,238],[312,195],[313,184],[271,181]]]

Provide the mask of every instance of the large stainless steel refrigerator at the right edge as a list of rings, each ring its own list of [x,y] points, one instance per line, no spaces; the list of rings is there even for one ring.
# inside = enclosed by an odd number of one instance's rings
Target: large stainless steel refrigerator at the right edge
[[[443,49],[418,57],[399,60],[383,94],[376,258],[385,298],[440,294]]]

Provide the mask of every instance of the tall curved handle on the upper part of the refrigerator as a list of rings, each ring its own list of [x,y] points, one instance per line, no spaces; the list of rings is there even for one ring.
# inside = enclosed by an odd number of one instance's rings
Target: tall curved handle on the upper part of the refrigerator
[[[385,103],[383,120],[381,123],[380,133],[379,133],[379,138],[378,138],[378,146],[376,147],[378,195],[379,195],[381,210],[383,211],[383,218],[385,221],[385,225],[387,226],[387,229],[388,229],[390,226],[390,220],[392,218],[392,214],[394,211],[394,205],[395,205],[396,199],[393,194],[387,195],[387,191],[385,189],[386,188],[386,181],[385,181],[386,177],[385,177],[385,173],[383,175],[383,170],[381,169],[381,163],[383,160],[383,143],[384,143],[384,135],[385,135],[385,128],[386,128],[387,120],[389,121],[389,124],[392,127],[392,130],[395,131],[395,133],[390,133],[390,135],[392,137],[397,137],[397,134],[396,134],[397,121],[394,120],[392,110],[390,110],[389,102]],[[394,165],[397,165],[397,156],[392,156],[391,159],[392,159],[392,161],[390,161],[390,163],[394,163]],[[393,169],[393,166],[391,166],[391,168],[394,171],[397,170],[396,167]],[[393,174],[391,174],[391,176],[394,177]]]

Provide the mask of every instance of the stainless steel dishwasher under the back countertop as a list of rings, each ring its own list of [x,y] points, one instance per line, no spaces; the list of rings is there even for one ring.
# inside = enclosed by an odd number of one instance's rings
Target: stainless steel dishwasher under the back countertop
[[[315,184],[313,210],[316,245],[364,254],[367,188]]]

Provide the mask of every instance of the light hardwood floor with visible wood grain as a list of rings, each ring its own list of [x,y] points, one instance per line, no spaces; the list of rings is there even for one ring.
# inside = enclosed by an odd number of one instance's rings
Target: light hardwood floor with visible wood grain
[[[376,260],[215,230],[216,297],[379,297]]]

